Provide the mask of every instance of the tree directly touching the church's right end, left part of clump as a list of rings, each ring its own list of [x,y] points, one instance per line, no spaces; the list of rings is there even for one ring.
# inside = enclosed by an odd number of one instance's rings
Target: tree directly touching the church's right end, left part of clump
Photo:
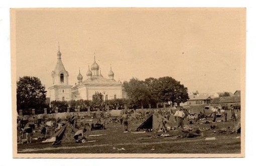
[[[132,78],[129,82],[123,82],[123,88],[133,107],[149,104],[151,93],[144,81]]]

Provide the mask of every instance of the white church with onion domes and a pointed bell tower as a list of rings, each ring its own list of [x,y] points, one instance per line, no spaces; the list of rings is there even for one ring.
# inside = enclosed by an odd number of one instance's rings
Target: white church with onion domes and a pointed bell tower
[[[49,87],[50,101],[69,101],[69,100],[92,100],[92,95],[99,92],[103,95],[103,100],[123,98],[122,84],[114,80],[114,73],[110,66],[108,78],[104,78],[96,63],[95,56],[91,68],[88,66],[86,79],[80,73],[77,76],[77,84],[74,86],[68,84],[68,72],[65,70],[61,61],[60,50],[57,53],[57,64],[52,71],[52,86]]]

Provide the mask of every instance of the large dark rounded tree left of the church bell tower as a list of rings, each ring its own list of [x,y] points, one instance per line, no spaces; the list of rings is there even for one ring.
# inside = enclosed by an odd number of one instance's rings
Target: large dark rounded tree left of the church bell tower
[[[46,106],[46,90],[37,77],[25,76],[17,81],[17,109],[42,109]]]

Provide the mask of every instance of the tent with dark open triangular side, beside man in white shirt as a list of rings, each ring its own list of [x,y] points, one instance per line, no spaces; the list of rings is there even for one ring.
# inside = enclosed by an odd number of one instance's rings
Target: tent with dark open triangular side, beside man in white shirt
[[[152,114],[147,120],[145,120],[138,128],[137,131],[139,130],[144,130],[144,129],[152,129],[152,130],[160,130],[163,129],[165,132],[166,127],[164,125],[164,122],[168,122],[168,120],[161,115],[155,115]]]

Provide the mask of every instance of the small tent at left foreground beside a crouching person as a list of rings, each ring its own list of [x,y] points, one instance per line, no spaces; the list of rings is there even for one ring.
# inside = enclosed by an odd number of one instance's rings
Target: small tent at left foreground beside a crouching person
[[[50,138],[46,139],[43,142],[69,142],[74,140],[75,128],[69,122],[67,122],[59,131],[54,133]]]

